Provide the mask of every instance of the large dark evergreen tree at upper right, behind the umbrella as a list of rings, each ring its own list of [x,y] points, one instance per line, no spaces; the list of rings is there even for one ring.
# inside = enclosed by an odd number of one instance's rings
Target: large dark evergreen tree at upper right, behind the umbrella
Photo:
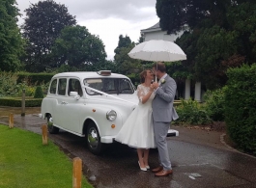
[[[164,6],[163,6],[164,5]],[[162,30],[175,33],[189,26],[176,40],[185,51],[185,71],[207,89],[225,85],[228,67],[256,61],[256,4],[254,1],[157,0]],[[164,13],[163,11],[172,10]],[[177,14],[178,13],[178,14]],[[180,13],[180,14],[179,14]],[[193,19],[194,17],[194,19]]]

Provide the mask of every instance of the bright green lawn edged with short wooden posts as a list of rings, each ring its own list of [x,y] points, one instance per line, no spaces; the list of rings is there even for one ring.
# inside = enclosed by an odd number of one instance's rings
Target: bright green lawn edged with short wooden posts
[[[0,124],[1,188],[71,188],[72,161],[42,136]],[[82,178],[82,188],[93,186]]]

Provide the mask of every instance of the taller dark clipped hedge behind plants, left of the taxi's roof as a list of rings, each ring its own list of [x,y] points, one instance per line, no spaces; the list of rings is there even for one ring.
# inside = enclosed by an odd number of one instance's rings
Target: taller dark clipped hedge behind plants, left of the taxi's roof
[[[23,80],[27,80],[31,85],[40,85],[42,83],[48,83],[55,73],[29,73],[19,72],[16,73],[18,76],[17,83],[22,83]]]

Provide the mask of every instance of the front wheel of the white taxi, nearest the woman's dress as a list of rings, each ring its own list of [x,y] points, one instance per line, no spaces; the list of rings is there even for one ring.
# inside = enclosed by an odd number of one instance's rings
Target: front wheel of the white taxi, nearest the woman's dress
[[[86,131],[86,144],[88,149],[96,155],[102,153],[105,145],[100,142],[100,133],[94,122],[90,122]]]

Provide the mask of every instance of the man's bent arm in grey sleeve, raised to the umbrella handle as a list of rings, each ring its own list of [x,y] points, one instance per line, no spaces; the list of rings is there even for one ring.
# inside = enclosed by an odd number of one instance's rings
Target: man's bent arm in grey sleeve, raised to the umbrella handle
[[[166,102],[174,101],[174,97],[176,94],[177,85],[173,79],[168,79],[164,83],[165,86],[159,87],[156,90],[156,94],[161,97]]]

